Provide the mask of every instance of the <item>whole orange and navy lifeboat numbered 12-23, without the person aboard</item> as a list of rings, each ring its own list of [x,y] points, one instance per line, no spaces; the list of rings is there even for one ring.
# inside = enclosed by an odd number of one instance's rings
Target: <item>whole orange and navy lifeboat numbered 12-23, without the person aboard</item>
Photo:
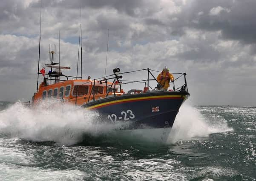
[[[99,119],[111,124],[123,124],[122,129],[141,128],[171,128],[182,103],[190,96],[187,89],[186,73],[179,73],[184,77],[184,84],[165,91],[161,87],[152,89],[149,82],[157,79],[149,68],[131,72],[120,72],[113,69],[113,74],[103,78],[87,79],[63,75],[62,69],[70,69],[56,63],[45,64],[50,68],[48,73],[40,71],[43,82],[32,97],[32,104],[36,106],[43,100],[55,100],[68,104],[75,104],[82,109],[97,111]],[[43,69],[44,70],[44,69]],[[123,75],[138,71],[146,71],[147,79],[138,81],[124,81]],[[150,79],[152,75],[152,79]],[[75,78],[74,80],[69,80]],[[143,89],[131,89],[124,92],[122,85],[144,83]]]

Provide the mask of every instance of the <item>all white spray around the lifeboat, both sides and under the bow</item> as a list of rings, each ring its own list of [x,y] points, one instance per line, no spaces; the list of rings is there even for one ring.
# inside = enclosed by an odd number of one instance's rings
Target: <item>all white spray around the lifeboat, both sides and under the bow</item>
[[[130,139],[134,142],[140,139],[139,142],[143,142],[145,139],[147,142],[159,142],[164,140],[169,144],[180,139],[207,137],[212,133],[231,131],[232,128],[223,121],[210,123],[198,110],[185,104],[181,106],[170,131],[147,129],[122,133],[115,130],[120,130],[120,125],[100,120],[99,114],[95,111],[69,104],[43,102],[35,108],[29,108],[17,102],[8,109],[0,111],[0,134],[34,142],[52,141],[61,145],[82,142],[84,134],[93,137],[110,136],[109,139],[115,141]],[[163,139],[163,132],[167,139]]]

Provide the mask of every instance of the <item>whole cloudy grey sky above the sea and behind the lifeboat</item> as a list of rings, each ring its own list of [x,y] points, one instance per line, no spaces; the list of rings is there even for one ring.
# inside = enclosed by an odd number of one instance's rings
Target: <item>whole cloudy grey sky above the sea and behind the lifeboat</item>
[[[0,5],[0,101],[30,100],[36,91],[40,0]],[[71,66],[66,75],[75,75],[80,7],[83,78],[104,75],[109,29],[107,74],[114,67],[167,65],[170,72],[187,72],[192,104],[256,105],[255,0],[42,0],[40,68],[49,63],[49,44],[58,50],[60,31],[61,65]],[[147,72],[125,77],[144,78]]]

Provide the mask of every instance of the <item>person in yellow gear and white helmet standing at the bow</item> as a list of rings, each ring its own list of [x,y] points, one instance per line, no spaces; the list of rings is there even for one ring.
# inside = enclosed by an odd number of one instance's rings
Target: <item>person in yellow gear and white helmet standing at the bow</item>
[[[169,69],[164,66],[163,71],[157,76],[157,81],[164,88],[164,91],[167,91],[168,87],[170,87],[170,80],[174,81],[173,75],[169,73]]]

